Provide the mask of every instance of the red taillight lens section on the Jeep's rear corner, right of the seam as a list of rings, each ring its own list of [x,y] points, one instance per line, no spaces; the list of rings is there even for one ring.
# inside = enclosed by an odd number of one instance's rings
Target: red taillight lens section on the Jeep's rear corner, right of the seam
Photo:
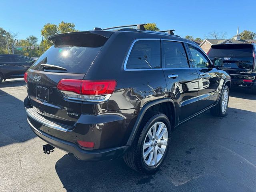
[[[115,80],[83,80],[82,94],[83,95],[106,95],[112,94],[116,89]]]

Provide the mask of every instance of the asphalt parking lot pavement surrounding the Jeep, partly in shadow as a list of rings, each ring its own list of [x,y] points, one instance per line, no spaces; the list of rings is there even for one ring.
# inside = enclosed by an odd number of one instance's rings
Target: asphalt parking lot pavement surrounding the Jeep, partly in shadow
[[[161,170],[140,175],[122,159],[89,163],[46,155],[26,121],[22,80],[0,84],[0,191],[256,191],[256,96],[233,90],[228,115],[205,112],[176,128]]]

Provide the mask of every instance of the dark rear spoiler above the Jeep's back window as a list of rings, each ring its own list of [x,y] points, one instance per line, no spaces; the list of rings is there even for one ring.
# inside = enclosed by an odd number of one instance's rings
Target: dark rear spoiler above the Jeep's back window
[[[113,33],[113,31],[69,32],[50,36],[48,40],[54,45],[100,47],[105,44]]]

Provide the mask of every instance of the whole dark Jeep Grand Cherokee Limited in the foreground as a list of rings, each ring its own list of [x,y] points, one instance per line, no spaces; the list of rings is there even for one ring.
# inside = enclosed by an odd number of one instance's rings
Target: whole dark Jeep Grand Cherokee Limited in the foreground
[[[24,76],[28,123],[47,154],[56,147],[80,160],[124,157],[152,173],[176,126],[208,109],[226,114],[230,76],[190,40],[143,28],[49,40]]]

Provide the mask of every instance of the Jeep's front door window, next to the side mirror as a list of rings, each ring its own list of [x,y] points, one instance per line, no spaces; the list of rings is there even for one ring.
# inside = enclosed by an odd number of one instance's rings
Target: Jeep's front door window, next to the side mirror
[[[210,65],[209,60],[206,58],[206,56],[204,56],[204,54],[199,49],[191,45],[188,45],[188,47],[192,55],[192,64],[196,68],[205,68]]]

